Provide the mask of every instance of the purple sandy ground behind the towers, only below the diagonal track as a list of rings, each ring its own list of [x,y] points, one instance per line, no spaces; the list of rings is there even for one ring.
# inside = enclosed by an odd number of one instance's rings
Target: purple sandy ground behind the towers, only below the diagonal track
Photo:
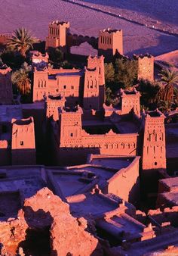
[[[98,30],[107,27],[122,28],[126,55],[133,52],[161,55],[178,48],[178,39],[173,36],[60,0],[0,0],[0,9],[0,32],[10,32],[23,26],[44,39],[48,33],[48,22],[58,19],[69,20],[72,33],[89,36],[97,36]],[[90,51],[92,54],[92,49]]]

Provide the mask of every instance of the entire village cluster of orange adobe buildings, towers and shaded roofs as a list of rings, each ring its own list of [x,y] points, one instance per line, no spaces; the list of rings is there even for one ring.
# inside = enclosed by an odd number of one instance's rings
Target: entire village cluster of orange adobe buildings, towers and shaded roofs
[[[46,49],[60,47],[65,54],[74,41],[96,41],[72,36],[65,22],[50,23],[48,31]],[[41,202],[51,198],[51,205],[57,195],[69,205],[75,221],[81,226],[84,222],[85,230],[97,239],[100,250],[93,251],[96,255],[176,250],[177,126],[165,125],[161,111],[141,111],[140,92],[135,88],[120,90],[117,108],[105,105],[104,60],[110,61],[117,52],[123,55],[122,31],[100,31],[97,44],[98,56],[89,56],[82,70],[51,68],[48,54],[33,52],[32,104],[11,105],[11,70],[0,67],[0,230],[2,225],[8,237],[13,223],[16,241],[12,246],[2,245],[8,255],[14,255],[19,244],[24,245],[23,251],[32,249],[30,237],[26,245],[16,234],[24,199],[37,195]],[[154,58],[134,58],[138,79],[154,80]],[[45,186],[54,195],[39,192]],[[150,198],[156,201],[154,210]],[[33,219],[47,212],[53,216],[49,205],[34,206],[34,212],[30,210]],[[28,218],[26,222],[30,223]],[[45,237],[50,244],[52,239],[51,245],[55,241],[60,248],[61,238],[59,242],[50,231],[57,224],[49,222],[47,235],[47,226],[44,232],[37,223],[33,225],[41,233],[39,241]],[[26,225],[20,227],[24,233],[26,229]]]

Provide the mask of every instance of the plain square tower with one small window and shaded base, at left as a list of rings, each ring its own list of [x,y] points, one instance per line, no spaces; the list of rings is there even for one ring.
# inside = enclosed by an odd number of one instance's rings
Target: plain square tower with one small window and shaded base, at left
[[[12,119],[11,163],[35,164],[35,130],[33,117]]]

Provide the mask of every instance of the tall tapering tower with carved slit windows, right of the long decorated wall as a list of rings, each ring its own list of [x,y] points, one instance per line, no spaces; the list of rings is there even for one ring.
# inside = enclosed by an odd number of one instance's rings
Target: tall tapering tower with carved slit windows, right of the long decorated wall
[[[145,117],[143,170],[166,170],[164,114],[150,111]]]

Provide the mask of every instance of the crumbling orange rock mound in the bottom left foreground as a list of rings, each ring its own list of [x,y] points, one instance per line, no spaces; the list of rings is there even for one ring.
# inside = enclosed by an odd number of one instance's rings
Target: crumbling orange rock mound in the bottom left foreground
[[[85,229],[86,220],[72,217],[69,205],[44,188],[24,201],[16,220],[0,222],[0,252],[3,256],[102,255],[97,238]],[[40,244],[46,246],[44,251]]]

